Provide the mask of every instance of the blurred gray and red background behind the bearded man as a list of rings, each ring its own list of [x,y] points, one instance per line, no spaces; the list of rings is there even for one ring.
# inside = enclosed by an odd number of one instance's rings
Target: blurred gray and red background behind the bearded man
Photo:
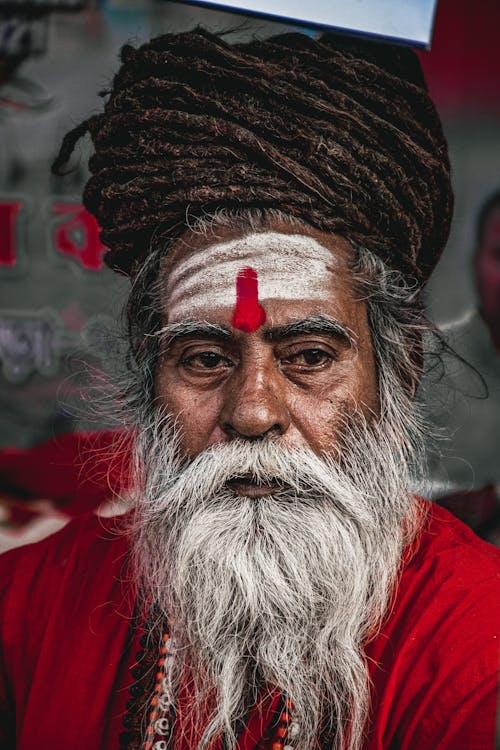
[[[120,46],[201,23],[234,37],[284,24],[168,0],[0,2],[0,550],[109,505],[126,474],[118,425],[88,388],[119,378],[128,283],[103,266],[80,205],[88,144],[53,178],[64,133],[99,111]],[[456,211],[427,290],[458,357],[431,357],[429,419],[447,434],[428,494],[500,545],[500,56],[498,0],[440,0],[419,53],[450,145]],[[311,32],[312,33],[312,32]],[[498,195],[495,195],[498,193]],[[493,196],[493,197],[492,197]]]

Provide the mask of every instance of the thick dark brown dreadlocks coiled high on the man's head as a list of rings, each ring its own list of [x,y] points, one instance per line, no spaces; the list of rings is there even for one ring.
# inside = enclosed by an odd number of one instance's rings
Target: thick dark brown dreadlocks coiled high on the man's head
[[[84,203],[131,273],[152,238],[219,208],[277,209],[420,281],[448,237],[441,123],[410,50],[324,35],[229,45],[203,29],[125,45],[90,132]]]

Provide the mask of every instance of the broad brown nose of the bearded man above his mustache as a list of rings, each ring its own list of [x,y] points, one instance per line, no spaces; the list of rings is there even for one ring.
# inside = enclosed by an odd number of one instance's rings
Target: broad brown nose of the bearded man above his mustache
[[[220,427],[230,439],[260,440],[283,435],[290,426],[284,396],[279,372],[273,371],[271,365],[240,365],[226,386]]]

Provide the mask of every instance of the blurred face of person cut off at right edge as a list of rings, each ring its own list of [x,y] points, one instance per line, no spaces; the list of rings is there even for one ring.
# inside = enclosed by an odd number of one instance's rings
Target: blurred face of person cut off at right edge
[[[485,223],[476,273],[481,313],[500,351],[500,206],[493,209]]]

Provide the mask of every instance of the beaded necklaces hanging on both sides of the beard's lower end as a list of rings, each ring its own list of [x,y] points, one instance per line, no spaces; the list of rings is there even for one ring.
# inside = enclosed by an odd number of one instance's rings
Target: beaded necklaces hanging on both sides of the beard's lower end
[[[170,624],[170,623],[168,623]],[[167,679],[169,660],[172,659],[173,639],[169,629],[161,637],[159,656],[151,658],[152,650],[148,649],[146,626],[139,639],[142,651],[136,654],[136,666],[132,676],[136,682],[129,688],[131,698],[127,702],[127,713],[123,717],[126,729],[120,735],[121,750],[170,750],[175,722],[175,697],[172,695]],[[155,685],[149,701],[145,739],[142,738],[140,717],[144,711],[144,695],[148,695],[148,676],[155,669]],[[150,692],[150,691],[149,691]],[[293,750],[293,742],[298,735],[298,725],[292,721],[292,703],[282,703],[279,720],[274,737],[269,745],[270,750]]]

